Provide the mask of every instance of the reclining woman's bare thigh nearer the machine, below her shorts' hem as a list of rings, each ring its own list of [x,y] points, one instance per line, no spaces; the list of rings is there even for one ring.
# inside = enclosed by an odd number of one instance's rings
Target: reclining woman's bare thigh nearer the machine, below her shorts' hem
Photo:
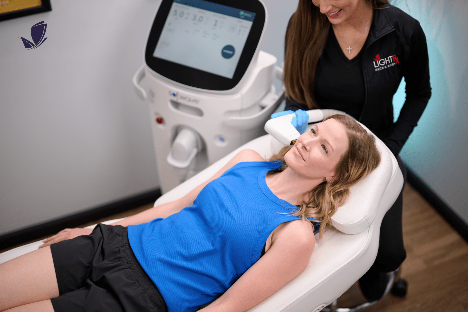
[[[50,246],[0,264],[0,311],[58,296]]]

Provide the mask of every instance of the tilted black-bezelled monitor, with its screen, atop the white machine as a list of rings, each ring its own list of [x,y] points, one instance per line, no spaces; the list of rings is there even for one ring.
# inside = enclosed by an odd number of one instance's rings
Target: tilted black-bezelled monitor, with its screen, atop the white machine
[[[265,23],[249,0],[162,0],[146,44],[146,65],[186,86],[234,88],[246,73]]]

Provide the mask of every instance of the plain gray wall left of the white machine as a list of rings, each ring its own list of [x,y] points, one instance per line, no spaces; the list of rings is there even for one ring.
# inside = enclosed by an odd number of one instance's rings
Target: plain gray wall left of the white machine
[[[0,22],[0,234],[158,187],[133,92],[155,0],[52,0]],[[30,28],[47,40],[27,50]]]

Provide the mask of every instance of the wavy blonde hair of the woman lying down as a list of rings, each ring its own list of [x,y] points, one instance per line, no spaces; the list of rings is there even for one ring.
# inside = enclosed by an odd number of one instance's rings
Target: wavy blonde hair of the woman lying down
[[[371,134],[354,119],[345,115],[332,115],[323,121],[331,118],[344,125],[348,135],[348,150],[344,152],[335,167],[334,180],[324,181],[306,192],[300,208],[292,213],[292,216],[299,216],[302,219],[319,218],[320,239],[331,227],[331,217],[336,209],[348,199],[351,186],[364,179],[380,163],[380,154]],[[271,157],[270,161],[281,160],[283,166],[269,174],[281,172],[288,167],[285,163],[285,154],[292,146],[294,145],[283,147],[278,154]]]

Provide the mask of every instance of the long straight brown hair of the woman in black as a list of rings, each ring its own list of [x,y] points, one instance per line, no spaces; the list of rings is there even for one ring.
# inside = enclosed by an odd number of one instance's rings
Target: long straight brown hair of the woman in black
[[[365,0],[373,9],[388,3],[388,0]],[[285,36],[284,83],[287,96],[317,108],[312,90],[315,67],[327,42],[330,22],[312,0],[299,0]]]

